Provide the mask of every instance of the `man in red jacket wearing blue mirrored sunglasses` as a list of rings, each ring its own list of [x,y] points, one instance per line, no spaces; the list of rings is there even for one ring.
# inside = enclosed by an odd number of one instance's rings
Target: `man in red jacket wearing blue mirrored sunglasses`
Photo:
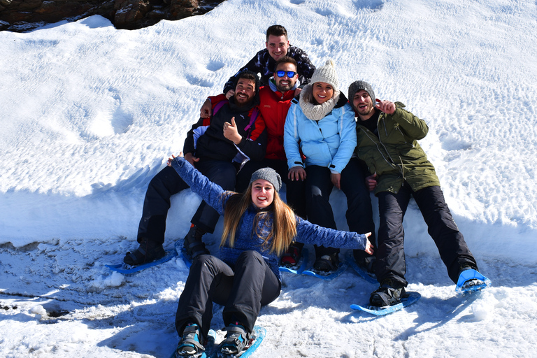
[[[294,91],[299,85],[299,73],[297,64],[292,57],[280,57],[275,64],[273,77],[268,80],[268,85],[259,90],[259,112],[265,121],[267,131],[266,154],[262,160],[250,160],[236,178],[235,189],[242,192],[248,183],[252,173],[266,166],[274,169],[286,184],[287,204],[291,206],[300,217],[306,218],[306,201],[304,197],[303,178],[289,178],[287,158],[283,149],[283,127],[287,111],[294,98]],[[201,117],[208,116],[215,103],[225,99],[223,94],[209,97],[201,108]],[[300,258],[301,245],[292,245],[282,257],[282,264],[294,265]]]

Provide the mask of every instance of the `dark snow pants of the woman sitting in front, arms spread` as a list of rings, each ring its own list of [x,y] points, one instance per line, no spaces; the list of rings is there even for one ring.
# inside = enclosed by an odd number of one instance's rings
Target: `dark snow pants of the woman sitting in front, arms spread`
[[[280,295],[281,282],[257,251],[245,251],[234,266],[213,255],[194,258],[185,289],[179,299],[176,329],[179,336],[187,324],[196,323],[207,337],[213,318],[213,302],[224,306],[224,324],[240,322],[254,329],[261,306]]]

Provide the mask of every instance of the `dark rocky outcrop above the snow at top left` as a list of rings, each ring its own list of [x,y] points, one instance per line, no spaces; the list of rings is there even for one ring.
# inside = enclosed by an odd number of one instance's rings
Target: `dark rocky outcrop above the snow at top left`
[[[118,29],[206,13],[224,0],[0,0],[0,30],[29,31],[62,20],[106,17]]]

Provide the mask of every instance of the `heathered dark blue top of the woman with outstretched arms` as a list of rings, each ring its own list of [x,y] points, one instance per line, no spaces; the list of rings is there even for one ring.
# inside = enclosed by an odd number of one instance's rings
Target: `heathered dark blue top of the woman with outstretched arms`
[[[215,208],[220,215],[224,215],[224,208],[227,200],[233,192],[226,192],[222,187],[208,180],[199,171],[187,162],[183,157],[177,157],[171,162],[173,169],[176,169],[182,180],[190,186],[192,192],[199,194],[201,198],[210,206]],[[254,224],[256,217],[256,230]],[[273,273],[281,280],[280,271],[278,270],[279,259],[275,252],[270,252],[271,242],[264,245],[264,238],[257,236],[256,231],[266,232],[270,230],[273,222],[273,217],[270,211],[261,211],[254,205],[251,205],[245,211],[236,230],[236,238],[234,247],[229,247],[227,243],[220,248],[220,259],[227,264],[235,264],[239,255],[243,251],[255,250],[259,252]],[[307,220],[296,217],[296,241],[301,243],[311,243],[315,245],[324,245],[331,248],[349,248],[364,250],[366,247],[366,236],[349,231],[339,231],[327,229],[318,225],[312,224]]]

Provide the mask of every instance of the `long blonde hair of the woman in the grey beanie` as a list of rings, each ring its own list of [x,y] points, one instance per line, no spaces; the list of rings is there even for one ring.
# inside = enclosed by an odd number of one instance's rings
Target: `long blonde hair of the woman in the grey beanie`
[[[229,246],[231,248],[234,246],[238,222],[241,221],[241,217],[250,205],[252,205],[252,184],[248,185],[248,189],[245,192],[234,194],[228,199],[224,208],[224,230],[222,231],[222,240],[220,241],[221,247],[226,243],[228,238]],[[270,213],[273,216],[272,227],[268,235],[264,237],[262,236],[261,228],[258,227],[258,223],[264,215],[269,215]],[[264,245],[272,241],[270,252],[275,252],[276,255],[280,256],[287,250],[296,236],[296,216],[292,208],[289,208],[282,201],[278,192],[274,190],[271,208],[268,211],[259,211],[257,213],[254,220],[254,227],[255,234],[264,240]]]

